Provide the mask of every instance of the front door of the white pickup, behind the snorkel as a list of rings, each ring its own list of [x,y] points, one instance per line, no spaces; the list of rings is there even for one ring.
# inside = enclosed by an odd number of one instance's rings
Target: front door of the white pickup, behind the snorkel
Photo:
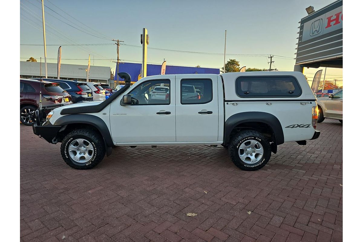
[[[169,85],[165,99],[146,102],[145,95],[154,86]],[[115,143],[175,142],[175,75],[168,80],[150,79],[137,85],[129,93],[133,104],[121,106],[121,95],[110,106],[111,134]],[[148,97],[148,95],[146,95]],[[157,114],[158,113],[158,114]]]

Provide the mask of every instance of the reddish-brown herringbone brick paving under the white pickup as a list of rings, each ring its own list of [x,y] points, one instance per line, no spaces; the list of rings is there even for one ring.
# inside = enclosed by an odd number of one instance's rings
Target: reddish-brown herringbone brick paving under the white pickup
[[[20,125],[20,241],[342,241],[342,124],[318,130],[254,172],[204,145],[118,147],[79,171]]]

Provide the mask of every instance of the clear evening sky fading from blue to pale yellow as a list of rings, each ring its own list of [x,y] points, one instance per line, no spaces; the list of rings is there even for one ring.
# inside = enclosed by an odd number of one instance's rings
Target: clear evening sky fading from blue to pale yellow
[[[268,69],[271,54],[272,68],[292,71],[298,22],[307,15],[305,8],[312,5],[318,10],[332,2],[44,0],[47,61],[57,62],[62,45],[62,63],[87,65],[91,54],[91,65],[110,66],[114,71],[117,52],[112,39],[119,39],[125,44],[120,46],[120,59],[140,63],[140,34],[147,28],[148,63],[161,64],[165,58],[167,65],[221,68],[227,30],[226,61],[236,59],[241,67]],[[44,59],[41,0],[20,0],[20,60],[29,57]],[[317,70],[305,68],[304,74],[313,79]],[[327,68],[326,79],[340,82],[342,72]]]

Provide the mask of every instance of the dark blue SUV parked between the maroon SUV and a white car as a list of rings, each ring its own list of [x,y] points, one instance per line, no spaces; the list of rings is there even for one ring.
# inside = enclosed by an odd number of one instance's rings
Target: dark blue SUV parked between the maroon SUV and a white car
[[[82,101],[93,101],[93,93],[92,90],[87,86],[85,82],[76,82],[70,80],[61,80],[61,79],[45,79],[45,78],[32,78],[36,80],[42,79],[43,81],[48,82],[57,82],[62,87],[62,89],[66,90],[71,96],[73,103],[79,103]]]

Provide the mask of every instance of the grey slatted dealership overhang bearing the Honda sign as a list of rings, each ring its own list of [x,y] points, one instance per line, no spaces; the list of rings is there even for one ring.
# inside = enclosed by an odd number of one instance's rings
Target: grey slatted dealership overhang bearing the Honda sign
[[[302,18],[298,34],[295,65],[343,68],[343,0]]]

